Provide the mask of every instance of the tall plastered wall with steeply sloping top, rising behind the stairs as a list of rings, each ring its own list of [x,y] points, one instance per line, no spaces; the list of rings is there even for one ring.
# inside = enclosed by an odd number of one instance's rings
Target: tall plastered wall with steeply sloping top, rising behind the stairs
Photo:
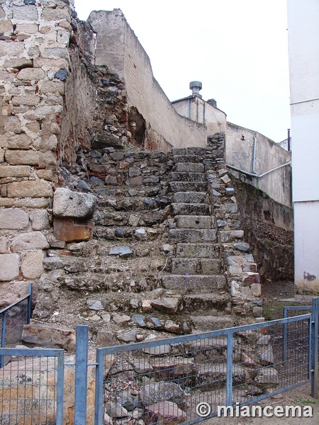
[[[88,22],[96,32],[95,64],[107,65],[124,79],[128,106],[136,108],[142,115],[144,134],[140,145],[166,150],[172,146],[204,147],[205,126],[187,120],[175,111],[154,78],[150,58],[121,10],[93,11]],[[130,121],[130,116],[128,119]],[[134,118],[131,121],[136,124]],[[141,126],[138,124],[138,128]]]

